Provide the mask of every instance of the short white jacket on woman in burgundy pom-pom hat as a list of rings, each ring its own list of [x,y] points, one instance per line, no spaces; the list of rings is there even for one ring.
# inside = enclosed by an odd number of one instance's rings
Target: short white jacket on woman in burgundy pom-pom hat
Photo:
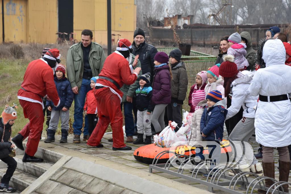
[[[254,107],[258,103],[258,95],[251,96],[249,93],[249,86],[253,79],[253,75],[255,73],[244,70],[237,73],[237,79],[233,80],[231,83],[231,106],[227,109],[228,113],[226,115],[226,119],[229,119],[235,114],[237,114],[242,107],[244,112],[242,114],[243,117],[246,118],[255,118],[255,109]]]

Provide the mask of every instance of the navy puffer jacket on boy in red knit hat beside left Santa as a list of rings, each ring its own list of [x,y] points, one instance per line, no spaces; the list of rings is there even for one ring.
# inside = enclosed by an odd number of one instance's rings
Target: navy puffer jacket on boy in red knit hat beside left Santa
[[[66,77],[58,79],[54,77],[54,82],[56,84],[56,90],[58,91],[58,96],[60,97],[61,103],[58,107],[54,106],[54,103],[47,100],[46,106],[51,106],[53,110],[62,110],[63,107],[69,109],[74,100],[74,93],[71,88],[71,83]]]

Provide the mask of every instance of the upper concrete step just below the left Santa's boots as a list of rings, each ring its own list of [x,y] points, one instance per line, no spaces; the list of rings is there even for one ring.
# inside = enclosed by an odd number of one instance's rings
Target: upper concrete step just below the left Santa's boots
[[[17,162],[17,170],[33,175],[34,177],[40,177],[45,173],[53,163],[47,161],[44,162],[22,162],[23,155],[16,155],[14,157]],[[2,165],[0,164],[0,167]]]

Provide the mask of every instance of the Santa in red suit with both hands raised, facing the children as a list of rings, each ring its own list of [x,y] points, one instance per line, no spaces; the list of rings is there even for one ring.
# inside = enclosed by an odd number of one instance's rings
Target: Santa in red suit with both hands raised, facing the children
[[[97,99],[99,121],[87,142],[90,146],[103,147],[100,141],[110,123],[113,137],[112,149],[131,150],[131,147],[124,143],[123,117],[120,109],[123,93],[119,90],[123,84],[133,84],[141,70],[139,67],[133,70],[138,62],[138,56],[135,57],[133,64],[129,65],[132,59],[131,53],[131,42],[120,39],[116,51],[105,59],[99,79],[95,84],[94,95]]]

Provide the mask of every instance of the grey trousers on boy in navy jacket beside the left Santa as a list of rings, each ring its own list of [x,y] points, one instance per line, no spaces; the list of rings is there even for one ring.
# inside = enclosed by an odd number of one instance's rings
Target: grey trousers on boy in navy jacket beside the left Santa
[[[61,118],[61,129],[69,130],[69,110],[52,110],[51,120],[49,121],[49,129],[56,131],[58,121]]]

